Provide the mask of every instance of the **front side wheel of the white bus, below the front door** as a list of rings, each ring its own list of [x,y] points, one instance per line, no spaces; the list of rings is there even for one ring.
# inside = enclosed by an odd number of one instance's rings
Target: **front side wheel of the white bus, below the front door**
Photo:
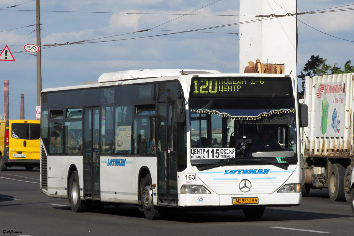
[[[143,190],[141,194],[141,202],[145,218],[148,220],[155,220],[159,217],[159,212],[153,204],[153,187],[150,174],[145,176],[141,189]]]

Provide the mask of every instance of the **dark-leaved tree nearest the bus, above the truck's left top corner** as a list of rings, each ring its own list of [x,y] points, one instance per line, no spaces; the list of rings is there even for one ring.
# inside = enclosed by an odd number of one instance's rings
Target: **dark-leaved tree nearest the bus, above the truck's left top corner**
[[[329,69],[328,65],[325,64],[326,59],[320,58],[319,55],[312,55],[310,60],[307,61],[304,68],[300,71],[300,75],[297,77],[302,80],[301,87],[302,91],[299,92],[299,97],[301,98],[305,92],[305,77],[310,76],[313,77],[317,75],[317,73],[325,73]],[[306,74],[304,74],[306,73]]]

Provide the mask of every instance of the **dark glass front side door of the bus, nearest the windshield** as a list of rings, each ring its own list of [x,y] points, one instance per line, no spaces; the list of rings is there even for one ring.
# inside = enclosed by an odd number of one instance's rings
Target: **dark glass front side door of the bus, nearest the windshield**
[[[158,196],[159,204],[177,205],[177,124],[174,102],[159,103]]]

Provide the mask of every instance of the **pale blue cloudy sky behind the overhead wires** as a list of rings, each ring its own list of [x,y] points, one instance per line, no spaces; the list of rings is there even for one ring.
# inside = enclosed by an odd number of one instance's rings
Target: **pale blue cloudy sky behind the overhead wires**
[[[239,22],[237,16],[205,16],[239,15],[239,1],[215,1],[41,0],[41,44],[129,39],[173,32],[161,30],[194,30]],[[354,2],[298,0],[298,12],[349,4]],[[19,6],[6,8],[13,5]],[[186,14],[192,11],[195,11],[193,14],[204,16],[183,16],[163,24],[180,15],[112,13]],[[324,33],[354,41],[353,13],[320,13],[298,16],[298,19]],[[8,45],[16,59],[15,62],[0,61],[1,84],[5,79],[10,82],[10,119],[19,119],[21,93],[25,97],[25,119],[35,119],[36,57],[27,52],[16,53],[24,51],[24,45],[36,43],[36,32],[33,32],[35,26],[25,27],[35,24],[35,20],[35,1],[0,0],[0,48]],[[19,27],[24,28],[15,29]],[[80,85],[83,81],[97,80],[103,73],[128,69],[213,69],[223,73],[239,72],[239,36],[235,35],[239,32],[238,26],[204,31],[212,33],[181,33],[48,48],[42,46],[42,88]],[[354,42],[333,38],[298,22],[297,75],[313,54],[327,59],[327,64],[338,63],[343,68],[348,59],[354,64]],[[0,96],[1,115],[3,109],[3,96]]]

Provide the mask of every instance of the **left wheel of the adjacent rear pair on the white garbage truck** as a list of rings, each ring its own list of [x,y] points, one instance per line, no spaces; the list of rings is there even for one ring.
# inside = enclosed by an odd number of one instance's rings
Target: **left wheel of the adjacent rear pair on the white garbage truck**
[[[342,200],[344,198],[344,174],[346,169],[336,163],[333,164],[328,177],[328,190],[332,201]]]

